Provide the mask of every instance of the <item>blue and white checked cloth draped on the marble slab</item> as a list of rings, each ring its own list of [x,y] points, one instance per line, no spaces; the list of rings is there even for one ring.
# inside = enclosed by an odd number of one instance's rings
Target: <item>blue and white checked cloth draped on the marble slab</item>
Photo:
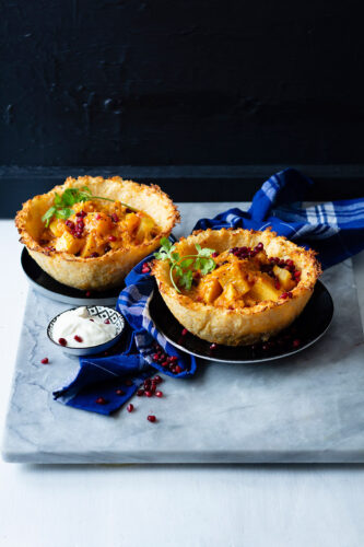
[[[295,170],[282,171],[262,185],[247,212],[228,209],[214,219],[199,220],[195,230],[271,226],[279,235],[314,248],[322,267],[328,268],[364,248],[364,198],[304,208],[302,201],[309,199],[313,185],[313,181]],[[143,263],[151,258],[146,257]],[[140,263],[126,278],[126,288],[117,302],[128,323],[127,349],[108,357],[81,358],[77,377],[55,392],[55,398],[75,408],[109,415],[119,409],[155,369],[176,379],[195,373],[195,357],[171,346],[150,317],[153,286],[150,274],[142,274]],[[183,372],[172,374],[153,361],[155,341],[166,353],[178,358]],[[99,397],[105,404],[96,403]]]

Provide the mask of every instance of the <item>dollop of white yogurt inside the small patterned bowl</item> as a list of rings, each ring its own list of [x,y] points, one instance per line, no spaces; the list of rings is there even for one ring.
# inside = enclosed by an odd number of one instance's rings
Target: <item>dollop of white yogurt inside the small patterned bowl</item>
[[[77,341],[75,336],[82,341]],[[106,324],[97,315],[89,315],[85,306],[64,312],[56,321],[52,330],[55,341],[64,338],[69,348],[98,346],[111,340],[115,336],[115,326],[111,323]]]

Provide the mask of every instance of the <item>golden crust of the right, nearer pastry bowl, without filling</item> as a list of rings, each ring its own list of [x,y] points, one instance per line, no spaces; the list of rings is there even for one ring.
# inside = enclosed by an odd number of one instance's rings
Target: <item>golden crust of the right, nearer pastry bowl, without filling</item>
[[[302,313],[321,274],[314,251],[298,247],[270,230],[257,232],[243,229],[197,231],[189,237],[181,238],[176,244],[176,251],[183,257],[195,253],[196,244],[222,253],[232,247],[255,247],[260,242],[269,257],[292,259],[301,269],[301,280],[292,289],[292,298],[279,299],[277,302],[263,301],[253,307],[216,307],[178,293],[169,279],[169,264],[166,260],[154,260],[153,275],[161,295],[185,328],[210,342],[244,346],[269,339]]]

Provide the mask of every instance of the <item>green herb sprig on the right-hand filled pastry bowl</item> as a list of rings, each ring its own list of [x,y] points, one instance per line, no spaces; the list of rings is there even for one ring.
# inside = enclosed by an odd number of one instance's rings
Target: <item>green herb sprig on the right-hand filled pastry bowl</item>
[[[178,284],[189,291],[192,287],[193,272],[200,271],[202,276],[207,276],[216,267],[216,263],[211,258],[212,253],[214,253],[213,248],[201,248],[198,243],[195,244],[195,247],[197,254],[181,257],[176,252],[175,245],[167,237],[162,237],[161,249],[154,253],[156,259],[169,261],[169,278],[177,292],[180,290],[175,282],[174,274],[178,278]]]

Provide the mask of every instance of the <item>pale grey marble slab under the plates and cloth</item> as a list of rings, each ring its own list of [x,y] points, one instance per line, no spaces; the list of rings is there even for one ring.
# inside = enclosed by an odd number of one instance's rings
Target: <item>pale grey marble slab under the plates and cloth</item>
[[[212,213],[201,208],[193,212],[195,218]],[[183,231],[191,228],[189,218]],[[351,261],[325,272],[322,281],[333,296],[336,312],[328,333],[315,346],[266,364],[200,361],[192,380],[164,382],[165,397],[136,397],[132,414],[121,409],[113,417],[54,401],[51,392],[74,376],[79,363],[47,340],[45,327],[69,306],[30,291],[2,446],[4,459],[363,463],[364,345]],[[48,365],[40,363],[45,356]],[[149,414],[155,414],[157,423],[146,421]]]

